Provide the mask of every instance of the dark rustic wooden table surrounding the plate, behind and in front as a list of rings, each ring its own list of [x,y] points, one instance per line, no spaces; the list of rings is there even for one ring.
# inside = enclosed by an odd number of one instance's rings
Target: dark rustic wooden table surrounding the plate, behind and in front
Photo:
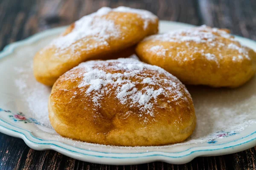
[[[144,8],[161,20],[229,28],[233,34],[256,40],[256,0],[0,0],[0,50],[39,31],[68,25],[102,6]],[[33,150],[22,139],[0,133],[0,169],[250,170],[256,169],[256,147],[226,156],[196,158],[183,165],[109,166],[78,161],[52,150]]]

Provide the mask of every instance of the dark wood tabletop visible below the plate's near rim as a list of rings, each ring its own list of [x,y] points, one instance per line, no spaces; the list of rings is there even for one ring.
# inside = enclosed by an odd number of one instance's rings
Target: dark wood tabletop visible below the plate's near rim
[[[152,162],[149,164],[114,166],[78,161],[53,150],[36,151],[27,147],[22,139],[4,134],[0,134],[0,141],[1,170],[255,170],[256,168],[256,147],[226,156],[196,158],[182,165]]]

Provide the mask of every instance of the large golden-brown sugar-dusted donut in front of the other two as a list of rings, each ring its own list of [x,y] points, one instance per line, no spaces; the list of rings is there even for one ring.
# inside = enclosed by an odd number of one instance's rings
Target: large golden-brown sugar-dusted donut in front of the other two
[[[67,71],[52,87],[48,110],[61,136],[97,144],[173,144],[196,125],[186,87],[133,58],[91,60]]]

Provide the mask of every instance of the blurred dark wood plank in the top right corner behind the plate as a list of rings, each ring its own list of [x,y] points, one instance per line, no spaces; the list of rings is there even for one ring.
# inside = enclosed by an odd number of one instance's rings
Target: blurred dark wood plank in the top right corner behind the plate
[[[256,40],[255,0],[200,0],[203,23]]]

